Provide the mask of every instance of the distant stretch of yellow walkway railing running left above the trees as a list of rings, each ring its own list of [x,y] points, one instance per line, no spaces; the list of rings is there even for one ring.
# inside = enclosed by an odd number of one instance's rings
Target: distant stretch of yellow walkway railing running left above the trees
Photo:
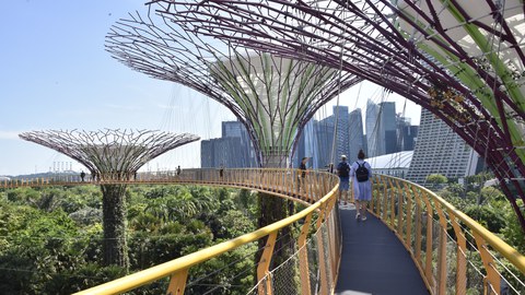
[[[229,187],[243,187],[255,190],[280,193],[303,203],[314,203],[338,184],[337,177],[308,172],[307,181],[298,181],[296,169],[240,168],[224,169],[185,169],[177,175],[174,170],[139,173],[135,177],[120,177],[107,174],[93,180],[90,175],[82,181],[80,175],[56,175],[47,178],[1,180],[0,188],[45,187],[45,186],[85,186],[114,184],[196,184]],[[329,176],[329,177],[328,177]]]

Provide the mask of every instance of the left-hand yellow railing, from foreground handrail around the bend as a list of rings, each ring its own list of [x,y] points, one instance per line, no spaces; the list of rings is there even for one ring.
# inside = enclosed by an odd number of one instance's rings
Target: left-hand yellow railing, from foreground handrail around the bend
[[[185,170],[180,175],[141,175],[138,181],[143,182],[184,182],[243,187],[271,193],[277,197],[293,199],[306,205],[306,209],[253,233],[180,257],[163,264],[127,275],[125,278],[82,291],[77,294],[119,294],[154,281],[170,278],[168,294],[184,294],[188,270],[196,264],[223,255],[243,245],[267,238],[266,247],[257,264],[258,284],[253,290],[256,294],[272,294],[278,284],[292,283],[275,280],[273,270],[269,269],[273,246],[280,229],[302,221],[301,234],[296,239],[296,252],[288,267],[295,268],[300,278],[296,286],[301,294],[332,294],[339,269],[341,251],[340,228],[337,213],[338,178],[327,173],[312,172],[307,184],[300,186],[298,175],[292,169],[228,169],[222,177],[215,169]],[[106,184],[110,181],[102,181]],[[137,181],[133,181],[137,182]],[[98,184],[98,182],[96,182]],[[315,217],[316,219],[315,219]],[[314,224],[315,223],[315,224]],[[308,238],[308,233],[315,232]],[[315,247],[312,251],[312,247]],[[310,251],[308,251],[310,250]],[[316,253],[316,263],[308,263],[312,253]],[[295,262],[294,262],[295,261]],[[317,282],[311,282],[311,273],[320,273]],[[316,290],[311,290],[316,286]]]

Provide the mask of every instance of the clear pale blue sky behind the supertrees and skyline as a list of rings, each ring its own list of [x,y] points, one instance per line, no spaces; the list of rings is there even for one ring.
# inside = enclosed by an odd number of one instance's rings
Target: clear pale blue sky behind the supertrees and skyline
[[[104,50],[110,26],[143,0],[7,1],[0,10],[0,175],[47,172],[57,163],[80,164],[18,134],[31,130],[103,128],[189,132],[220,137],[220,121],[235,117],[219,103],[135,72]],[[364,109],[378,87],[354,87],[340,104]],[[359,93],[359,95],[357,94]],[[352,98],[353,97],[353,98]],[[359,99],[355,99],[358,97]],[[404,98],[397,101],[401,111]],[[331,103],[335,104],[335,101]],[[331,115],[328,106],[327,115]],[[419,123],[419,107],[408,117]],[[200,143],[190,143],[151,163],[149,169],[198,167]]]

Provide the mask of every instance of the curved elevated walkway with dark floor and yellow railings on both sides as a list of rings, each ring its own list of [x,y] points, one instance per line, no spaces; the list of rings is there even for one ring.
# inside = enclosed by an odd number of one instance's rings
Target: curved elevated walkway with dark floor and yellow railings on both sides
[[[191,281],[199,280],[188,275],[192,266],[261,238],[266,246],[257,263],[258,283],[246,294],[290,294],[291,285],[296,294],[525,292],[517,279],[525,274],[522,253],[432,191],[399,178],[374,175],[365,222],[354,219],[353,205],[337,204],[339,180],[325,172],[311,172],[304,187],[298,186],[294,169],[186,169],[180,175],[139,174],[126,181],[73,178],[4,180],[0,188],[192,184],[246,188],[305,205],[253,233],[77,294],[120,294],[164,278],[170,278],[168,294],[184,294]],[[278,233],[290,225],[301,227],[294,237],[295,253],[270,269]],[[508,266],[517,272],[512,274]],[[294,275],[284,278],[290,273]]]

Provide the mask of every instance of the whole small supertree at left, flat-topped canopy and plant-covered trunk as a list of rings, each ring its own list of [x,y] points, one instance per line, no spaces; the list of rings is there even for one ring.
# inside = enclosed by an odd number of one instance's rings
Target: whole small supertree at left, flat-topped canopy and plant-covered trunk
[[[194,134],[149,130],[105,129],[24,132],[20,138],[52,149],[84,165],[101,184],[104,263],[128,268],[126,188],[150,160],[199,140]],[[106,184],[105,184],[106,182]]]

